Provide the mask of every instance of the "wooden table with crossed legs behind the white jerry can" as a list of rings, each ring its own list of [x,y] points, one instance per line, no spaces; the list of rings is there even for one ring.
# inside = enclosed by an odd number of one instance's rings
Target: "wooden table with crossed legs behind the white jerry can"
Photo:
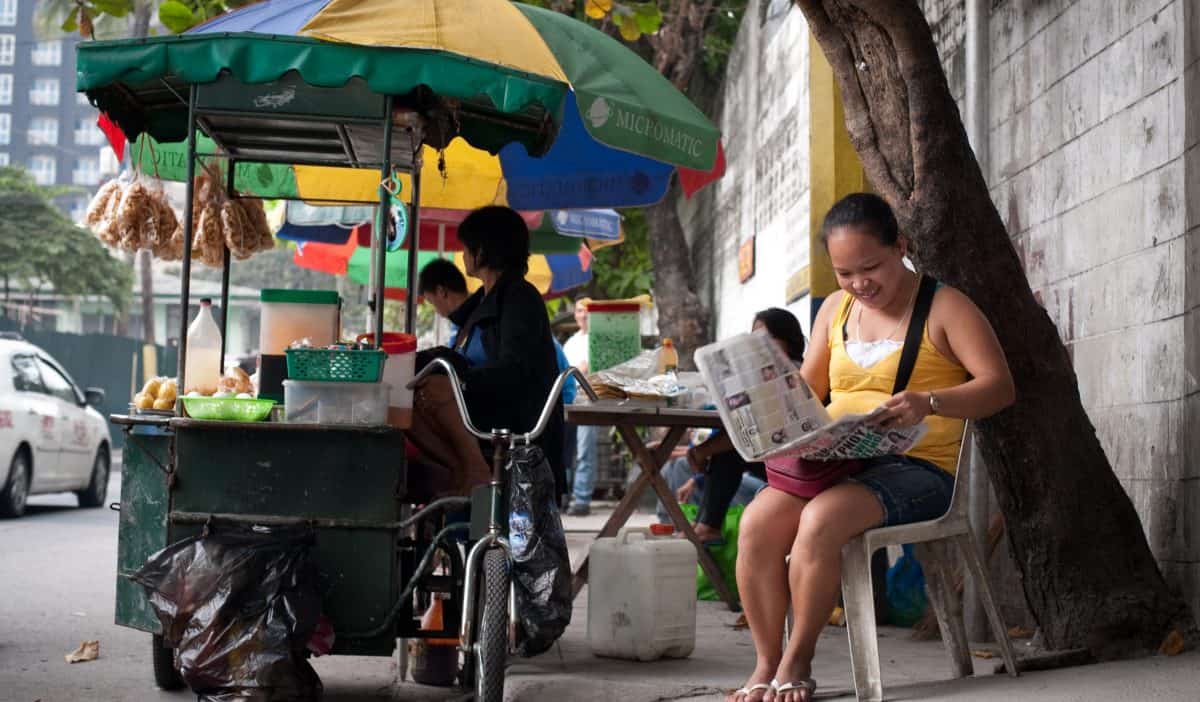
[[[696,545],[700,566],[704,569],[704,572],[713,582],[713,586],[721,595],[721,599],[725,600],[725,604],[727,604],[731,610],[739,610],[740,605],[738,604],[737,595],[733,594],[728,583],[725,582],[725,576],[721,575],[721,570],[713,559],[713,554],[704,548],[700,538],[696,536],[696,532],[691,528],[691,522],[688,521],[683,510],[679,509],[679,503],[676,502],[674,494],[671,492],[671,488],[660,474],[662,468],[666,466],[667,460],[671,458],[672,450],[674,450],[676,444],[679,443],[679,439],[683,437],[685,431],[689,428],[715,428],[721,426],[721,418],[716,414],[716,410],[671,409],[649,407],[644,404],[623,404],[622,401],[617,400],[601,400],[592,404],[568,406],[566,421],[581,426],[616,427],[617,433],[620,434],[625,445],[628,445],[630,451],[632,451],[634,458],[642,469],[637,480],[635,480],[629,490],[625,491],[625,497],[617,503],[617,509],[613,510],[612,516],[608,517],[604,528],[600,529],[596,539],[616,536],[617,532],[625,524],[630,515],[632,515],[637,508],[638,496],[641,496],[642,491],[649,486],[654,488],[654,492],[658,493],[659,499],[666,506],[667,514],[671,516],[671,521],[674,523],[676,529],[683,532],[684,535]],[[637,436],[637,431],[635,431],[637,427],[665,427],[667,428],[667,436],[662,439],[662,443],[659,444],[658,449],[652,450],[646,445],[646,442]],[[584,556],[583,562],[580,563],[577,569],[575,569],[571,594],[578,595],[587,581],[588,558]]]

